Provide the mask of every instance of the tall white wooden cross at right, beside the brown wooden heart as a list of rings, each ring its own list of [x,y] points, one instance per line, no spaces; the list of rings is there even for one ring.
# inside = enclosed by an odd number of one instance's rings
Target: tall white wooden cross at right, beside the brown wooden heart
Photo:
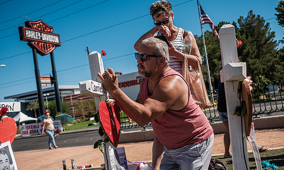
[[[235,26],[223,25],[219,36],[223,65],[221,82],[224,82],[226,90],[233,169],[249,170],[245,120],[233,115],[235,107],[241,105],[237,93],[239,80],[246,78],[246,63],[238,63]]]

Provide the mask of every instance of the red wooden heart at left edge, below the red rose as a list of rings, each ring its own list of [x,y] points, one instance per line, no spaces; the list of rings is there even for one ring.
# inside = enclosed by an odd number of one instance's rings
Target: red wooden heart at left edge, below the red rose
[[[0,141],[1,144],[4,142],[14,141],[17,134],[17,124],[11,117],[5,117],[0,120]]]

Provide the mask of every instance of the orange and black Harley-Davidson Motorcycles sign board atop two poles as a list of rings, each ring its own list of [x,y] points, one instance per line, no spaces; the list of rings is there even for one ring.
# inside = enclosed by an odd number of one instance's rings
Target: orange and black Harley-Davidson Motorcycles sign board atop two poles
[[[29,42],[28,45],[36,48],[37,53],[42,56],[61,45],[59,35],[52,33],[53,27],[42,20],[26,21],[25,26],[18,28],[20,40]]]

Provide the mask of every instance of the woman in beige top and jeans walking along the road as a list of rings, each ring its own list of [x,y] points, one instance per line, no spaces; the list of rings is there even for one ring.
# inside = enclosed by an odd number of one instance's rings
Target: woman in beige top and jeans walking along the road
[[[46,111],[45,113],[45,119],[43,119],[43,129],[41,131],[41,135],[43,136],[43,131],[45,131],[45,133],[48,136],[48,145],[49,145],[49,149],[56,149],[58,148],[58,146],[55,144],[55,139],[53,137],[54,135],[54,130],[55,127],[53,126],[53,120],[49,117],[50,113],[48,111]],[[52,144],[54,145],[54,148],[52,147]]]

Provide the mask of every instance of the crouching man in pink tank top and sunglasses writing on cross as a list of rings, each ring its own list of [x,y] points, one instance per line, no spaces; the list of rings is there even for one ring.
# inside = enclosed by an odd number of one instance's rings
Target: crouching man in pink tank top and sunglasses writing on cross
[[[138,73],[144,77],[136,101],[121,91],[111,68],[98,76],[129,118],[140,126],[151,122],[156,134],[153,168],[208,169],[213,128],[195,104],[185,79],[169,67],[167,44],[153,37],[147,38],[142,41],[135,58]]]

